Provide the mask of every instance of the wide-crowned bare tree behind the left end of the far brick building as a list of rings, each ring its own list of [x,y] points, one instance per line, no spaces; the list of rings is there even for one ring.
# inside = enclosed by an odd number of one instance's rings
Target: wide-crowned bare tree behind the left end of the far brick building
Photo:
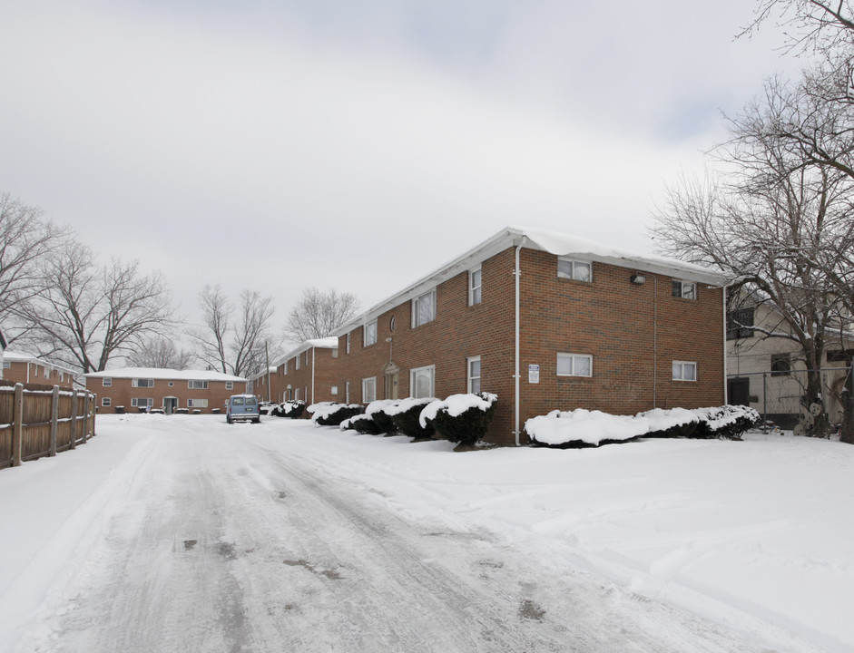
[[[102,371],[114,356],[137,351],[145,337],[172,324],[169,290],[159,272],[113,259],[98,267],[91,249],[67,241],[42,260],[33,297],[13,309],[31,325],[26,342],[63,365]]]

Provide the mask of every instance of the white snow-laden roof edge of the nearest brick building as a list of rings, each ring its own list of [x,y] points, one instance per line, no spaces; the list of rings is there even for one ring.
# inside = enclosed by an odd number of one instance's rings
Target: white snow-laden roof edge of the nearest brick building
[[[347,324],[335,329],[334,336],[343,336],[356,327],[376,319],[389,309],[411,300],[418,295],[427,292],[438,284],[447,281],[460,272],[474,268],[486,258],[495,256],[498,252],[509,247],[523,243],[528,249],[539,249],[557,256],[579,256],[601,263],[609,263],[636,270],[639,272],[650,272],[668,277],[684,278],[688,281],[698,281],[712,286],[729,285],[731,279],[722,272],[710,268],[686,263],[672,258],[644,257],[632,252],[614,249],[594,242],[593,240],[575,238],[556,231],[545,229],[528,229],[525,227],[508,226],[501,229],[493,237],[484,240],[464,254],[447,262],[444,266],[436,268],[426,276],[410,284],[407,288],[400,290],[391,297],[383,299],[358,317],[350,320]]]

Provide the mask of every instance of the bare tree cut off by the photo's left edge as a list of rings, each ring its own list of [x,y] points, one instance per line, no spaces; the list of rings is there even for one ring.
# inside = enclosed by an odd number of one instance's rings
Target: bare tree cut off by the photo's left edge
[[[0,194],[0,312],[32,297],[42,279],[39,260],[68,237],[38,207]]]

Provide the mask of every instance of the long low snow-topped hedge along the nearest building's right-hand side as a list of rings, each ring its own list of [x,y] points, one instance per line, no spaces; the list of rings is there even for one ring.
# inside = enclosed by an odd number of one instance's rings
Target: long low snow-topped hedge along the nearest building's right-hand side
[[[642,437],[740,439],[744,431],[760,421],[760,415],[752,408],[731,405],[694,410],[655,408],[635,415],[577,408],[532,417],[525,422],[525,433],[535,444],[584,447],[629,442]]]

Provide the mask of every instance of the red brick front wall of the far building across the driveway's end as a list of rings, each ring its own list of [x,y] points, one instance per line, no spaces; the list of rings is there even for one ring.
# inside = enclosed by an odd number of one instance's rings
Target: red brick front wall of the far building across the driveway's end
[[[172,383],[172,386],[169,384]],[[187,408],[188,399],[207,399],[207,408],[200,408],[202,413],[211,413],[212,409],[223,410],[225,400],[231,395],[242,395],[246,392],[245,381],[234,381],[233,388],[227,390],[225,381],[208,381],[207,390],[191,390],[186,379],[155,379],[154,387],[132,387],[132,379],[114,378],[113,385],[104,387],[103,379],[99,377],[87,378],[86,388],[98,395],[97,405],[102,413],[113,413],[115,406],[123,405],[127,413],[137,412],[135,406],[131,406],[133,397],[151,397],[154,400],[152,408],[162,408],[163,397],[178,397],[178,408]],[[103,397],[110,397],[110,406],[103,406]],[[192,411],[193,408],[191,407]]]

